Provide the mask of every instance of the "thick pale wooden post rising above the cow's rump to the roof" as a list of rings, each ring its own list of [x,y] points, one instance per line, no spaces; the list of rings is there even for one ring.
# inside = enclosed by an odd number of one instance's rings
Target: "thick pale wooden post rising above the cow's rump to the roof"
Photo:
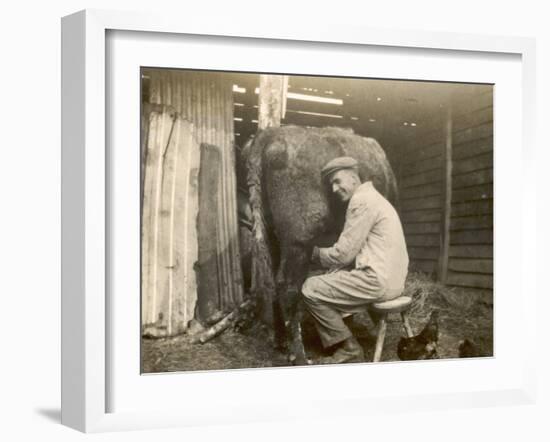
[[[286,110],[287,85],[285,75],[260,75],[258,129],[281,125]]]

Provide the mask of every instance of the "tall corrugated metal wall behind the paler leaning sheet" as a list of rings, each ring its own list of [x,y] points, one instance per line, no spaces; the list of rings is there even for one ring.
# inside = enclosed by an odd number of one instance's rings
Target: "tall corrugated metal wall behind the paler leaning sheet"
[[[217,259],[219,308],[227,310],[243,299],[236,207],[232,85],[223,74],[184,70],[146,71],[150,102],[172,106],[191,121],[199,143],[220,148]]]

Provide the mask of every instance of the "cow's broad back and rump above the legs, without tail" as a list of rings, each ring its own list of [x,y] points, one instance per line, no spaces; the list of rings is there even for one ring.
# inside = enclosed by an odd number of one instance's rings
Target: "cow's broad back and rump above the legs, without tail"
[[[309,243],[336,228],[338,213],[320,175],[334,158],[355,158],[362,180],[371,179],[377,190],[395,203],[395,177],[376,140],[332,127],[285,126],[266,129],[261,136],[264,201],[283,244]]]

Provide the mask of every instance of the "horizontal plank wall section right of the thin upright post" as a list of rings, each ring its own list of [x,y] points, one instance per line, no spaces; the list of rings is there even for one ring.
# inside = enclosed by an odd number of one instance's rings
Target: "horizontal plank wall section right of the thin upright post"
[[[453,187],[447,284],[493,288],[493,92],[453,106]]]

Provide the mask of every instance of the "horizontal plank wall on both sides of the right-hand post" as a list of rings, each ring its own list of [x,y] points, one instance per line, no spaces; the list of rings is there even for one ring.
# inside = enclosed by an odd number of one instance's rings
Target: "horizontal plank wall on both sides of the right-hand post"
[[[493,93],[455,94],[452,103],[451,286],[493,287]],[[411,269],[437,275],[441,254],[445,109],[411,130],[397,165]]]

